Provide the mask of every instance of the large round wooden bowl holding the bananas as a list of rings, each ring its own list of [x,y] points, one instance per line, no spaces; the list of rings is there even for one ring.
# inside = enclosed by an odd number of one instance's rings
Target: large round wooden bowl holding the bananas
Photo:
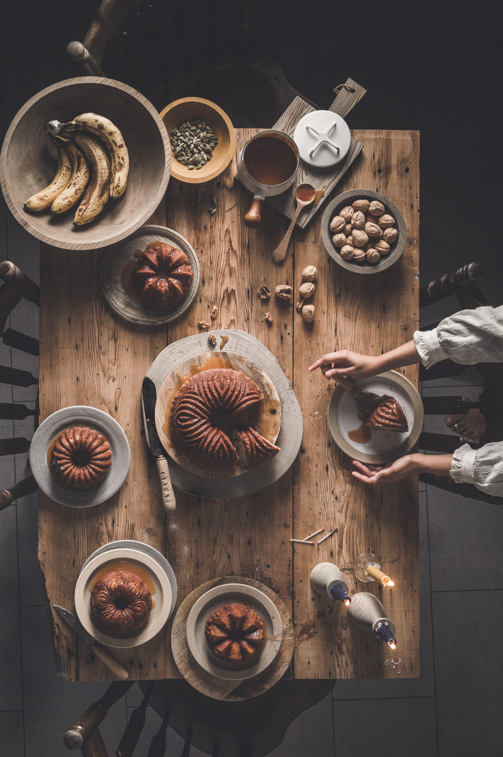
[[[106,116],[123,134],[129,151],[126,192],[82,227],[73,226],[73,210],[57,216],[50,210],[25,210],[26,200],[56,172],[48,121],[65,122],[88,111]],[[126,238],[145,223],[163,198],[170,166],[168,135],[154,106],[126,84],[80,76],[53,84],[23,105],[5,136],[0,182],[8,207],[30,234],[54,247],[93,250]]]

